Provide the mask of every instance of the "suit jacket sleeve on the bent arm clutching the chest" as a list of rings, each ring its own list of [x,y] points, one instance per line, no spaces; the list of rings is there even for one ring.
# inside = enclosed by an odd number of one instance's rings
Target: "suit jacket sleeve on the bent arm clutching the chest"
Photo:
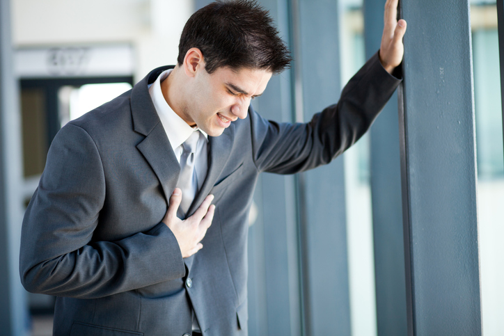
[[[19,272],[26,290],[98,298],[184,276],[164,223],[118,241],[92,241],[105,185],[93,139],[79,126],[63,127],[24,215]]]

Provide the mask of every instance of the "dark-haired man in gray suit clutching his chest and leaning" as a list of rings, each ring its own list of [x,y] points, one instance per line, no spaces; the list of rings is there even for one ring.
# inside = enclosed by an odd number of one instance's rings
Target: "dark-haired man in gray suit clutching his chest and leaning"
[[[251,108],[290,57],[267,13],[242,0],[198,10],[175,67],[63,127],[20,256],[24,287],[57,296],[54,335],[246,335],[258,174],[329,163],[370,127],[399,83],[396,8],[387,1],[379,54],[306,125]]]

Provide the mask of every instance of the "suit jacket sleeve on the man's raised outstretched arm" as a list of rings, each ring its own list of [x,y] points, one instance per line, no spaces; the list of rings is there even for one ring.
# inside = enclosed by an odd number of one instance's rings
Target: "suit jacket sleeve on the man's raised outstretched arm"
[[[365,134],[400,81],[384,70],[377,53],[343,88],[338,104],[306,124],[265,120],[250,109],[258,170],[292,174],[331,162]]]

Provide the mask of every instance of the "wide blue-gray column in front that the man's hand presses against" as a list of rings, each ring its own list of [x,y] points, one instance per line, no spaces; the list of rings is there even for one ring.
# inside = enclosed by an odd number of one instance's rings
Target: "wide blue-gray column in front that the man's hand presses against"
[[[409,335],[481,335],[468,0],[403,0]]]

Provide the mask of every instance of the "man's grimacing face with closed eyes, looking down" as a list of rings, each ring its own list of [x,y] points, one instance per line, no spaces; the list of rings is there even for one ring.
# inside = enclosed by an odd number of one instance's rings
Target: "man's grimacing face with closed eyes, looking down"
[[[237,118],[244,119],[251,99],[265,90],[271,72],[219,67],[212,74],[202,69],[194,78],[194,99],[187,102],[184,119],[209,136],[220,136]]]

